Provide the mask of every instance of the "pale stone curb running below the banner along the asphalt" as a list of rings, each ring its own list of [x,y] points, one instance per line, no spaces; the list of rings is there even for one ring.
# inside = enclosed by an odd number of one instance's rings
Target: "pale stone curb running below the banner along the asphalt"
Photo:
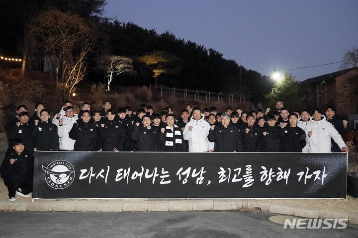
[[[348,219],[358,225],[358,212],[293,206],[254,199],[195,200],[0,200],[0,211],[37,212],[172,212],[172,211],[261,211],[316,219]]]

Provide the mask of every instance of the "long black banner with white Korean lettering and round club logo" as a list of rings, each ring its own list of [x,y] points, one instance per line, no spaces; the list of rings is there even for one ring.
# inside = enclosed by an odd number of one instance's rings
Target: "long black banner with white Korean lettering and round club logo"
[[[35,152],[33,198],[346,198],[347,154]]]

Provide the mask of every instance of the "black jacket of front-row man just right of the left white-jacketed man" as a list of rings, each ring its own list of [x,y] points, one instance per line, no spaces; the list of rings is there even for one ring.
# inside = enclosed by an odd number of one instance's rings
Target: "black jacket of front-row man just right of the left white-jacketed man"
[[[76,141],[74,151],[95,151],[98,127],[91,122],[75,123],[69,132],[69,137]]]

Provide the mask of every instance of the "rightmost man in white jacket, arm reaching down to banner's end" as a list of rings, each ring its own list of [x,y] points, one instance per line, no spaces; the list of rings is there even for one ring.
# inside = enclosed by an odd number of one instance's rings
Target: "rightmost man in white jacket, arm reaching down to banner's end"
[[[331,153],[331,138],[342,151],[348,152],[348,148],[341,135],[334,126],[326,121],[321,109],[312,110],[311,123],[306,125],[306,142],[309,143],[308,153]]]

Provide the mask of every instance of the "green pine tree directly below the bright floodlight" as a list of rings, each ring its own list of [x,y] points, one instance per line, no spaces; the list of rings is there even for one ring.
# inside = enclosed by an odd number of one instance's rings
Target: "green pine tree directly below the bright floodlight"
[[[299,94],[300,84],[296,77],[285,72],[282,78],[275,82],[270,93],[265,94],[269,108],[274,108],[276,101],[282,101],[289,111],[299,110],[305,96]]]

